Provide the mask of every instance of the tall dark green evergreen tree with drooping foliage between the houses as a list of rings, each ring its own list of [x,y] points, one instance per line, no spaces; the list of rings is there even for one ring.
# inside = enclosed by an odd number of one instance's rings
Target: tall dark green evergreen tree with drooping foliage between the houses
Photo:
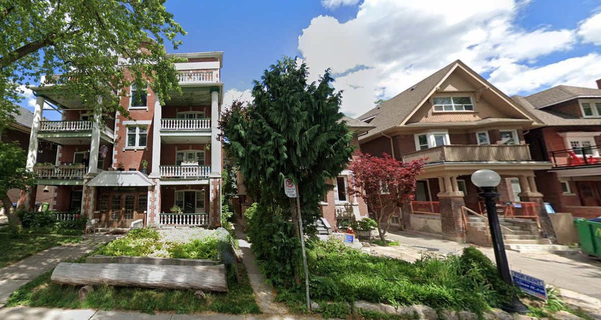
[[[282,58],[254,81],[254,102],[231,110],[222,128],[245,179],[263,183],[261,198],[287,207],[284,177],[297,183],[309,226],[320,215],[326,179],[344,170],[353,148],[329,70],[317,82],[307,78],[305,63]]]

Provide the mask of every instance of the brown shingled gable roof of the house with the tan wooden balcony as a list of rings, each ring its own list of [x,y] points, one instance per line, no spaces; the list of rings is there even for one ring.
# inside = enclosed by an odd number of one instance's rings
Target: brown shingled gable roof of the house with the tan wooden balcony
[[[495,86],[490,84],[486,79],[482,78],[477,72],[466,66],[461,60],[453,61],[427,78],[419,81],[417,84],[408,88],[407,90],[397,94],[388,101],[382,103],[379,106],[371,109],[365,114],[362,114],[358,119],[365,120],[374,117],[371,120],[370,125],[374,125],[376,128],[370,130],[367,135],[361,137],[361,140],[366,138],[375,137],[377,134],[382,134],[389,129],[397,126],[405,125],[407,120],[418,110],[418,107],[423,105],[426,99],[436,92],[438,87],[448,78],[457,67],[465,70],[469,75],[472,75],[477,81],[480,81],[484,86],[488,87],[491,91],[498,94],[503,100],[516,108],[525,117],[531,118],[532,121],[537,122],[537,118],[523,108],[519,103],[511,100],[510,97],[502,93]],[[430,123],[432,124],[432,123]]]

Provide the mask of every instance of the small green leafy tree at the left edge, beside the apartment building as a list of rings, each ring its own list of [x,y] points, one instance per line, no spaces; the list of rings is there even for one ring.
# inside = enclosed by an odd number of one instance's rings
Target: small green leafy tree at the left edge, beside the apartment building
[[[21,221],[14,212],[13,202],[8,198],[8,190],[26,190],[35,183],[34,173],[25,169],[26,160],[25,150],[19,144],[0,141],[0,200],[8,224],[13,227],[20,226]]]

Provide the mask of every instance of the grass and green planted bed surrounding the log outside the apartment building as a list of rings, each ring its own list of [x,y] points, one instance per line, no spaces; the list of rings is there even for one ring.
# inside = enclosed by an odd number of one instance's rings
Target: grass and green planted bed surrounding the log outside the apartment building
[[[214,259],[214,232],[203,229],[171,229],[156,232],[150,229],[132,230],[124,238],[112,241],[92,254],[111,256],[163,256]],[[83,263],[84,259],[77,262]],[[255,302],[246,270],[240,266],[240,283],[227,269],[227,294],[205,292],[206,300],[194,295],[194,290],[95,287],[84,301],[78,299],[78,286],[50,283],[52,271],[35,278],[9,298],[7,306],[58,307],[66,309],[134,310],[146,313],[261,313]]]

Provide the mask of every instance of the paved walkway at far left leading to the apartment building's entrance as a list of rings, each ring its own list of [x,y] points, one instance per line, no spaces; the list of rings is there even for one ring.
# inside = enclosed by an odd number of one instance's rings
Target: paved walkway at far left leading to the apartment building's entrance
[[[65,244],[40,251],[19,262],[0,269],[0,307],[4,306],[10,294],[20,286],[30,282],[44,272],[55,268],[59,262],[79,259],[104,244],[117,238],[116,235],[101,233],[85,235],[84,241],[77,244]],[[0,316],[0,319],[2,316]]]

